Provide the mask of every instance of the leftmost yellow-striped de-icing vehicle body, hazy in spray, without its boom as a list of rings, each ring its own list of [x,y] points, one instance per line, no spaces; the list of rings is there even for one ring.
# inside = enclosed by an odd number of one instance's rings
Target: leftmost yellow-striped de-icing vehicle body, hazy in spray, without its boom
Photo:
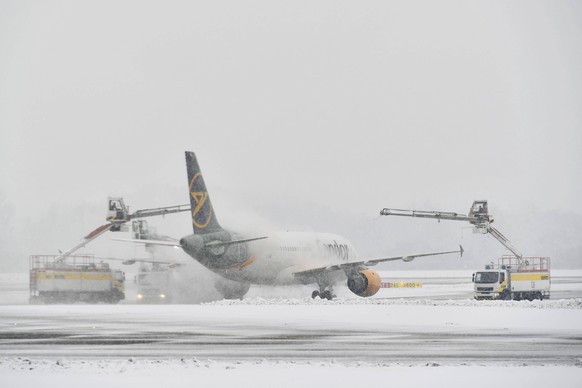
[[[125,273],[93,256],[30,256],[30,303],[118,303]]]

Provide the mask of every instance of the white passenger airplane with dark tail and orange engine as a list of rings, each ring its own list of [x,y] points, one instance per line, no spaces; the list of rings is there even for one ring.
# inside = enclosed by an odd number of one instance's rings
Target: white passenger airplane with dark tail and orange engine
[[[370,297],[380,289],[378,263],[460,253],[459,250],[378,259],[359,259],[352,243],[331,233],[269,232],[247,236],[222,228],[193,152],[186,151],[186,169],[193,233],[179,241],[125,240],[181,247],[207,269],[220,275],[216,285],[227,299],[242,299],[251,284],[316,284],[313,299],[331,300],[333,287],[347,280],[351,292]],[[226,280],[225,280],[226,279]]]

